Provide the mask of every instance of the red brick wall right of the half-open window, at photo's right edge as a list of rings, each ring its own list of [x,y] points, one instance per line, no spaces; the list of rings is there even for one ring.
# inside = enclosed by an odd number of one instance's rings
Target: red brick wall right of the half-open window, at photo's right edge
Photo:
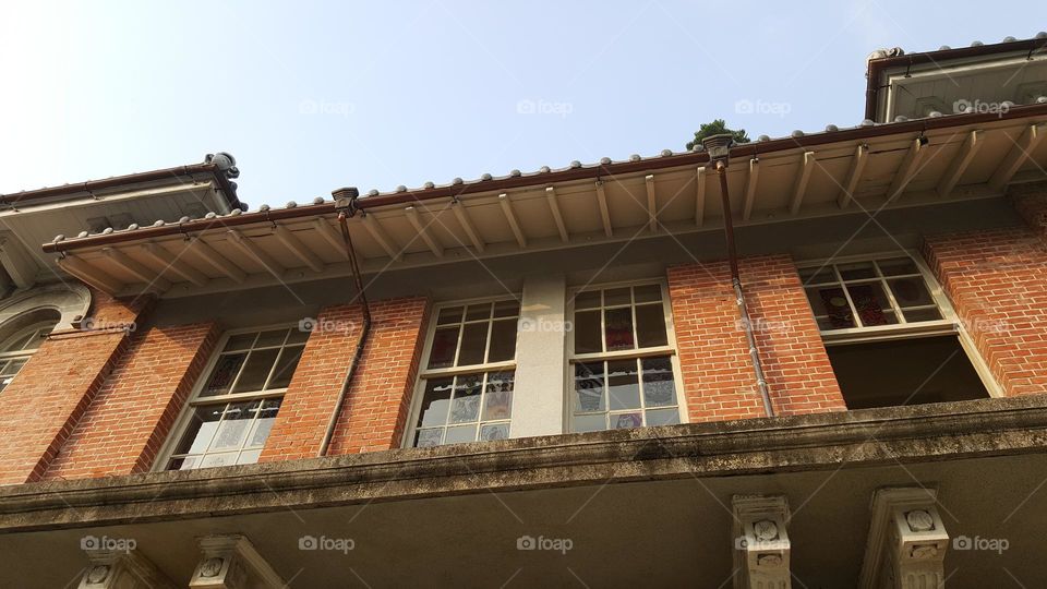
[[[1047,393],[1047,249],[1037,231],[929,236],[924,252],[1004,394]]]

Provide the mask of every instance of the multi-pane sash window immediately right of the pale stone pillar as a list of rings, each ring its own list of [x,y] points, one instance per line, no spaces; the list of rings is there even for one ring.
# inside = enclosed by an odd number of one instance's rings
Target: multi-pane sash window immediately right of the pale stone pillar
[[[662,286],[583,290],[573,302],[570,431],[679,423]]]

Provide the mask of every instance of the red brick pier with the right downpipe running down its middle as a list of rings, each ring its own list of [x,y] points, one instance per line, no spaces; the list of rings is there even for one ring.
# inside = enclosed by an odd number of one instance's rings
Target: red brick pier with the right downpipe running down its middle
[[[777,414],[846,409],[792,259],[739,265]],[[669,291],[689,421],[763,417],[727,263],[672,267]]]

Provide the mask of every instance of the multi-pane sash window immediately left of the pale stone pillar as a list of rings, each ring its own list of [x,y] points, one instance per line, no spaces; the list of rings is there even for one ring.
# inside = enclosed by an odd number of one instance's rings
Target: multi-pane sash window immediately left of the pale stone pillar
[[[437,308],[419,375],[411,445],[509,436],[519,317],[516,300]]]

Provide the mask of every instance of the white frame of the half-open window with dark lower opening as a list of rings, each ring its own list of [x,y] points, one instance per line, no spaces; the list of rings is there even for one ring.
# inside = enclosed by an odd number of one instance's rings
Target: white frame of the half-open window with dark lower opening
[[[890,287],[886,283],[883,284],[883,289],[886,296],[892,303],[895,312],[899,315],[899,323],[893,325],[875,325],[871,327],[847,327],[843,329],[822,329],[820,330],[822,342],[826,347],[829,346],[841,346],[847,344],[867,344],[872,341],[888,341],[891,339],[912,339],[916,337],[930,337],[930,336],[947,336],[955,335],[960,340],[960,347],[963,348],[963,351],[967,354],[967,360],[971,362],[971,365],[974,368],[975,372],[982,378],[982,384],[985,386],[986,392],[988,392],[990,397],[1002,397],[1003,389],[996,382],[996,378],[992,376],[992,371],[989,370],[988,364],[985,363],[985,360],[982,358],[982,354],[978,353],[977,347],[974,345],[974,338],[971,337],[971,334],[967,332],[966,327],[963,324],[963,321],[956,315],[955,310],[952,308],[952,302],[949,300],[949,296],[941,288],[941,285],[938,284],[938,279],[935,277],[935,274],[930,271],[930,267],[924,262],[923,255],[918,252],[912,250],[894,250],[888,252],[878,252],[871,254],[862,254],[862,255],[849,255],[840,256],[832,259],[822,259],[814,261],[803,261],[796,264],[796,269],[807,269],[807,268],[817,268],[817,267],[829,267],[834,264],[850,264],[855,262],[868,262],[868,261],[879,261],[879,260],[890,260],[893,257],[908,257],[916,265],[916,268],[919,271],[920,276],[924,279],[924,285],[927,287],[927,291],[930,293],[931,300],[938,308],[938,311],[941,313],[941,318],[936,321],[920,321],[915,323],[905,322],[904,313],[901,312],[901,306],[894,301],[894,294],[891,292]],[[837,278],[840,278],[839,273],[837,273]],[[882,278],[882,277],[881,277]],[[801,279],[801,285],[804,289],[804,300],[807,301],[808,306],[810,305],[810,300],[807,298],[807,288],[815,288],[815,285],[808,286],[803,283]],[[837,283],[838,286],[843,287],[843,283]],[[856,310],[851,303],[851,297],[847,294],[846,289],[844,288],[844,294],[847,297],[847,304],[851,305],[851,312],[855,316],[855,321],[861,321],[857,318]],[[811,308],[811,313],[815,313],[815,310]]]

